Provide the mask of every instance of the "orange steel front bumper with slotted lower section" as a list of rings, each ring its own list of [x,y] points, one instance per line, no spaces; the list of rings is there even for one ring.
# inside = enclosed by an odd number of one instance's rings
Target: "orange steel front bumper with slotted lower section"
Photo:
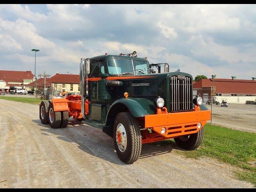
[[[198,132],[198,123],[203,127],[210,119],[210,110],[146,115],[145,128],[152,128],[165,138],[174,138]],[[166,132],[161,134],[163,127]]]

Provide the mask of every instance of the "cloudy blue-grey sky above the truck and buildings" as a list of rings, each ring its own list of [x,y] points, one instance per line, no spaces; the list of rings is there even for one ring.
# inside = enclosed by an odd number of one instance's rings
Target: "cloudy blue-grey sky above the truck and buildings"
[[[78,74],[81,57],[130,53],[192,76],[256,76],[256,5],[0,6],[0,70]]]

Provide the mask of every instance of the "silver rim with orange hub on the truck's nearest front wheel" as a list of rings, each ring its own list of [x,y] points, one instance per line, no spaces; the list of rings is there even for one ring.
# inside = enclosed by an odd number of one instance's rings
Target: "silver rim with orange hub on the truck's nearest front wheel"
[[[116,144],[121,152],[125,152],[127,147],[127,135],[122,123],[116,127]]]

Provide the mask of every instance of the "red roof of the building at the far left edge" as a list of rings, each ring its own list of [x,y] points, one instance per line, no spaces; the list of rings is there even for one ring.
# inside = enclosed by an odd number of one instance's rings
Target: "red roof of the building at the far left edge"
[[[6,71],[0,70],[0,80],[5,82],[22,82],[24,79],[34,79],[31,71]]]

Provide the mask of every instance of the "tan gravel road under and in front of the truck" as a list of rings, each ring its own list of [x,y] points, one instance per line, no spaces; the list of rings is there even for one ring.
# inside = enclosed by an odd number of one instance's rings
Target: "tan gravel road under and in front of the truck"
[[[126,165],[102,130],[72,118],[52,129],[37,105],[0,99],[0,132],[0,188],[253,188],[234,178],[237,168],[168,145],[144,144]]]

